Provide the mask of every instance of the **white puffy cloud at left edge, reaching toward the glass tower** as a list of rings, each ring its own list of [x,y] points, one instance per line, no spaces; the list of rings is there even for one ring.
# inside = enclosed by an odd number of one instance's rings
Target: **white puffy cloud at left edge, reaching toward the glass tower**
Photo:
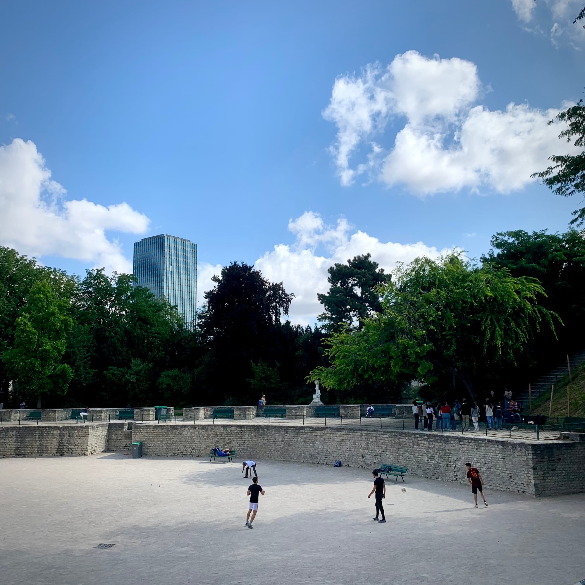
[[[64,199],[35,143],[16,138],[0,146],[0,244],[22,254],[90,261],[131,273],[122,246],[106,232],[144,233],[150,220],[127,203]]]

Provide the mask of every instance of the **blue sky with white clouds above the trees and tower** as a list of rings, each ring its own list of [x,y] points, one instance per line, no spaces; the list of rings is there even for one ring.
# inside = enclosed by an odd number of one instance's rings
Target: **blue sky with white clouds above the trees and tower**
[[[201,288],[257,261],[311,322],[350,254],[564,230],[578,202],[529,174],[569,148],[545,122],[583,95],[581,5],[5,5],[0,244],[82,273],[172,233]]]

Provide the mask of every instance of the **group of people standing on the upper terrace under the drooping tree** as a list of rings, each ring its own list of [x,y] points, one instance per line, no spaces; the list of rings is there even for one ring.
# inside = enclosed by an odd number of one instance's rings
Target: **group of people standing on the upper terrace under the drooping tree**
[[[487,398],[483,411],[488,428],[500,430],[504,409],[499,402],[494,407],[491,400]],[[414,415],[414,428],[417,431],[419,428],[421,431],[432,431],[433,420],[435,421],[435,429],[440,431],[456,431],[459,424],[462,425],[463,431],[471,429],[472,424],[473,430],[479,431],[480,407],[477,402],[468,402],[466,398],[463,398],[462,402],[455,400],[453,405],[447,401],[439,402],[434,407],[430,401],[413,400],[412,414]]]

